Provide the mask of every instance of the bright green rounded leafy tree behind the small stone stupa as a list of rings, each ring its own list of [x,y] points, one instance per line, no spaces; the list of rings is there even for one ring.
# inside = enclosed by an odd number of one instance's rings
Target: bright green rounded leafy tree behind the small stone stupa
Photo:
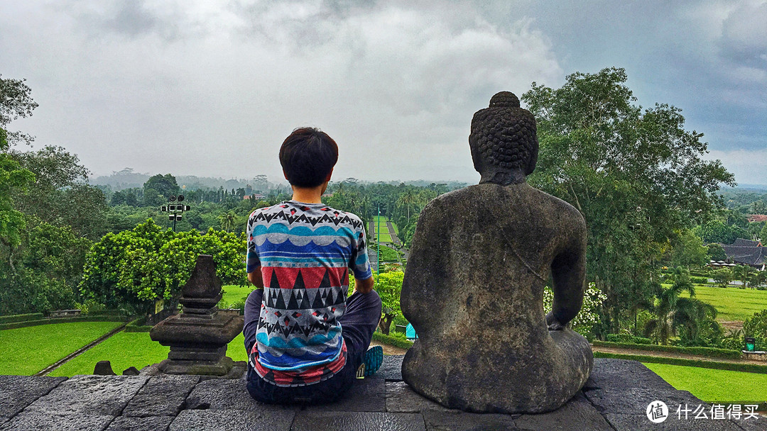
[[[225,284],[245,286],[245,238],[196,230],[174,233],[146,220],[133,230],[107,233],[87,254],[81,293],[110,308],[143,312],[153,301],[177,299],[199,254],[210,254]]]

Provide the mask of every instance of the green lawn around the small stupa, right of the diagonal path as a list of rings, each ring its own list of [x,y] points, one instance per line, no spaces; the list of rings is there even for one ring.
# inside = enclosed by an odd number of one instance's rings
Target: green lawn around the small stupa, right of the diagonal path
[[[242,334],[238,335],[229,343],[226,355],[235,361],[247,361],[244,342]],[[122,374],[127,367],[137,367],[140,370],[146,365],[163,361],[168,357],[168,351],[170,348],[152,341],[149,332],[120,332],[48,375],[71,377],[75,374],[92,374],[98,361],[111,361],[112,370]]]

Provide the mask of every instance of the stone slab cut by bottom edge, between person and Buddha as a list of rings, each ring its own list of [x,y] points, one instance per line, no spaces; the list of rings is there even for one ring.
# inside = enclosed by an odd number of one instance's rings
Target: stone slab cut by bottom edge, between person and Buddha
[[[298,412],[291,431],[425,431],[417,413]]]

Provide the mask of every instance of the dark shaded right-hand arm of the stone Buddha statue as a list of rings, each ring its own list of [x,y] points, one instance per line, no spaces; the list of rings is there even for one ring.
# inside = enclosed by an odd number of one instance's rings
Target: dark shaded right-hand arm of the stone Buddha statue
[[[551,279],[554,282],[554,305],[546,315],[551,330],[564,328],[583,305],[586,278],[586,224],[578,214],[573,229],[551,262]]]

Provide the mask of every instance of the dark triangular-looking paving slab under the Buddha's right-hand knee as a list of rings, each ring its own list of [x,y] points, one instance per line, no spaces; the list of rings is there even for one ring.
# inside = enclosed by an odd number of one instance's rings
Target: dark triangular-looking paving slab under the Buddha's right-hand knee
[[[523,414],[514,420],[522,429],[547,429],[548,431],[612,431],[604,417],[586,400],[583,393],[553,412]]]

